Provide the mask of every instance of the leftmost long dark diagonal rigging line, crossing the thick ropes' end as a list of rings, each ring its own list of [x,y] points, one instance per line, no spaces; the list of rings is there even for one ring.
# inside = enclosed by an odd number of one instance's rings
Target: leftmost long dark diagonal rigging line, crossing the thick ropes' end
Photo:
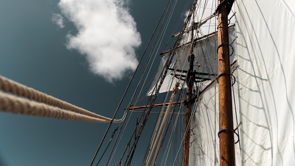
[[[166,7],[167,7],[167,5],[168,5],[168,3],[166,4]],[[166,7],[165,7],[165,9],[166,9]],[[164,9],[164,11],[165,11],[165,9]],[[119,107],[120,107],[121,104],[122,104],[123,98],[125,97],[125,95],[126,95],[126,93],[127,93],[127,90],[129,89],[130,84],[131,84],[131,82],[132,82],[132,80],[133,80],[133,78],[134,78],[134,76],[135,76],[135,73],[137,72],[137,70],[138,70],[138,68],[139,68],[139,65],[140,65],[140,63],[141,63],[141,61],[142,61],[142,59],[143,59],[143,56],[145,55],[145,52],[146,52],[147,49],[148,49],[148,46],[149,46],[149,44],[150,44],[150,42],[151,42],[151,40],[152,40],[152,38],[153,38],[153,36],[154,36],[154,34],[155,34],[155,31],[156,31],[156,29],[157,29],[157,27],[158,27],[158,25],[159,25],[159,23],[160,23],[160,20],[161,20],[163,14],[164,14],[164,11],[163,11],[163,13],[162,13],[162,15],[161,15],[161,17],[160,17],[160,19],[159,19],[157,25],[156,25],[156,28],[155,28],[155,30],[154,30],[152,36],[150,37],[150,40],[149,40],[149,42],[148,42],[148,45],[145,47],[145,51],[143,52],[142,57],[140,58],[140,61],[139,61],[138,65],[137,65],[137,67],[136,67],[136,69],[135,69],[135,71],[134,71],[134,73],[133,73],[133,75],[132,75],[132,78],[130,79],[130,82],[129,82],[129,84],[128,84],[128,86],[127,86],[127,88],[126,88],[126,90],[125,90],[125,92],[124,92],[124,94],[123,94],[123,97],[121,98],[121,101],[120,101],[120,103],[119,103],[119,105],[118,105],[118,107],[117,107],[117,110],[115,111],[115,114],[114,114],[114,116],[113,116],[113,119],[115,118],[115,116],[116,116],[116,114],[117,114],[117,112],[118,112],[118,110],[119,110]],[[112,119],[112,121],[113,121],[113,119]],[[92,161],[91,161],[91,163],[90,163],[90,166],[92,166],[92,164],[93,164],[93,162],[94,162],[94,159],[95,159],[95,157],[96,157],[96,155],[97,155],[97,153],[98,153],[98,151],[99,151],[99,149],[100,149],[100,147],[101,147],[101,145],[102,145],[102,143],[103,143],[103,141],[104,141],[104,139],[105,139],[105,137],[106,137],[106,134],[107,134],[107,132],[109,131],[109,128],[111,127],[112,121],[110,122],[108,128],[106,129],[106,132],[105,132],[105,134],[104,134],[104,137],[102,138],[102,140],[101,140],[101,142],[100,142],[100,144],[99,144],[99,147],[98,147],[97,150],[96,150],[96,153],[95,153],[95,155],[94,155],[94,157],[93,157],[93,159],[92,159]]]

